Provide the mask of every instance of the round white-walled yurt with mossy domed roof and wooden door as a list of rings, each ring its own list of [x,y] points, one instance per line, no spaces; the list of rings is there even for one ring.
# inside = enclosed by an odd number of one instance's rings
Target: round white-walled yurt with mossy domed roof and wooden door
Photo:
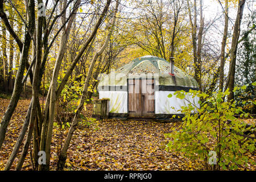
[[[175,67],[174,61],[156,56],[143,56],[123,67],[101,76],[98,84],[100,99],[109,99],[109,117],[171,118],[181,115],[181,106],[199,98],[183,100],[168,95],[176,90],[199,90],[191,76]]]

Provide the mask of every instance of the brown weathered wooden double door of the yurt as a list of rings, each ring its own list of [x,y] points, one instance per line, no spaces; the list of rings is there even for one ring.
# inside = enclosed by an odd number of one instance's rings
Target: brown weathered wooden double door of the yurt
[[[129,117],[154,117],[154,79],[129,79],[128,87]]]

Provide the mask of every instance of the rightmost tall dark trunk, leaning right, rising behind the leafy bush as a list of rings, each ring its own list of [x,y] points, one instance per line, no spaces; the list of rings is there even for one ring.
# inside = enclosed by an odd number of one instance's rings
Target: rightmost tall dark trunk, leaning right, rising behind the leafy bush
[[[231,53],[230,53],[230,64],[229,64],[229,73],[228,73],[228,81],[226,83],[226,88],[229,89],[230,94],[228,96],[228,101],[234,99],[234,78],[236,72],[236,55],[237,55],[237,45],[238,39],[240,36],[240,25],[243,16],[243,7],[245,6],[245,0],[241,0],[238,5],[237,9],[237,18],[234,24],[234,31],[232,37],[232,44],[231,44]],[[226,90],[226,89],[225,89]]]

